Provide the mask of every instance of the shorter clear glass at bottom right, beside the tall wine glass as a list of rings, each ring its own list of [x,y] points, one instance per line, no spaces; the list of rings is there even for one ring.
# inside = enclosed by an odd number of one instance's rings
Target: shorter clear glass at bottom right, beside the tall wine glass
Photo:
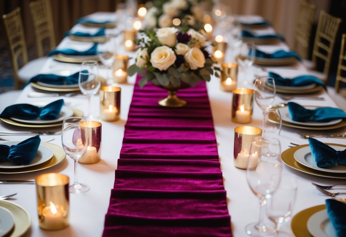
[[[279,186],[276,188],[273,196],[267,200],[267,217],[275,222],[276,235],[280,237],[291,236],[289,233],[280,231],[280,227],[284,221],[290,219],[296,195],[297,181],[288,174],[282,174]]]

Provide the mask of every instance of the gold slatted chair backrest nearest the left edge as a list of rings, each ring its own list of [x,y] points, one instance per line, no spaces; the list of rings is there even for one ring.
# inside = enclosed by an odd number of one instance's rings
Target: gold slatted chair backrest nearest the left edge
[[[28,62],[20,8],[17,7],[12,12],[2,15],[2,19],[11,55],[15,88],[20,89],[20,85],[25,84],[25,82],[20,81],[18,70]]]

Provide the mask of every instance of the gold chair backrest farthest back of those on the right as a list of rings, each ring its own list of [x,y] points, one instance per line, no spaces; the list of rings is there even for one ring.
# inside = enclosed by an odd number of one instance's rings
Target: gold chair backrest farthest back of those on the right
[[[295,25],[294,49],[302,58],[308,58],[309,42],[316,5],[304,0],[300,3],[297,23]]]

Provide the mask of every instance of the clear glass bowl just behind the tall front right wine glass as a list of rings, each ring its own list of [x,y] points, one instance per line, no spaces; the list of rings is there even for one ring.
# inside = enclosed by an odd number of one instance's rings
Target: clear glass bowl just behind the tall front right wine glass
[[[262,120],[263,136],[279,136],[282,126],[282,119],[279,109],[268,108],[264,111]]]

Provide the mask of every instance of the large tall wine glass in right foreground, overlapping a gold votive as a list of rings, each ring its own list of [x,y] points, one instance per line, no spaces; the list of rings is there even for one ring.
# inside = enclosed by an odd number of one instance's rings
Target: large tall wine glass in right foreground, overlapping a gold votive
[[[272,137],[258,136],[251,143],[246,169],[246,179],[252,192],[260,198],[261,208],[258,222],[248,224],[248,235],[272,236],[276,229],[272,223],[264,221],[264,205],[280,183],[282,173],[280,141]]]

